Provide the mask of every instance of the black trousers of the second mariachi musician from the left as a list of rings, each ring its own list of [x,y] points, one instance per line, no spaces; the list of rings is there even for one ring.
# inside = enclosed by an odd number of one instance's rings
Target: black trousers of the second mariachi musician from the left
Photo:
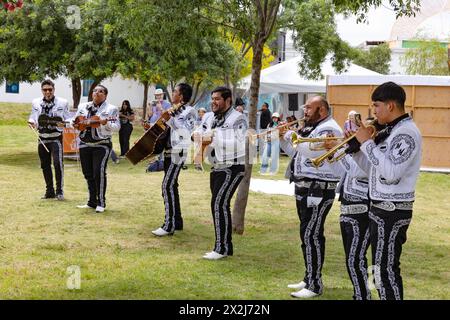
[[[80,161],[89,190],[88,205],[106,207],[106,168],[112,144],[80,145]]]

